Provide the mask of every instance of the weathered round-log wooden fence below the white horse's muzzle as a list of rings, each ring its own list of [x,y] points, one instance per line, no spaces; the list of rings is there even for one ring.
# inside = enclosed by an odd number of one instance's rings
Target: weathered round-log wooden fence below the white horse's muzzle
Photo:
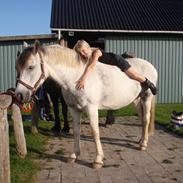
[[[27,154],[22,115],[19,107],[15,103],[12,104],[12,101],[11,95],[0,94],[0,183],[10,183],[8,107],[12,110],[17,154],[21,158]]]

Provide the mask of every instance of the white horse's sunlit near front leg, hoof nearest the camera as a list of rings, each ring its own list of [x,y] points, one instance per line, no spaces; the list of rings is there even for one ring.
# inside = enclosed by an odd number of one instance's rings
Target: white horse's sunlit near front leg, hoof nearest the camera
[[[101,168],[103,166],[104,152],[100,142],[99,124],[98,124],[98,108],[97,106],[88,106],[87,108],[88,116],[90,119],[90,125],[92,129],[92,135],[95,141],[97,156],[94,161],[93,167],[95,169]]]

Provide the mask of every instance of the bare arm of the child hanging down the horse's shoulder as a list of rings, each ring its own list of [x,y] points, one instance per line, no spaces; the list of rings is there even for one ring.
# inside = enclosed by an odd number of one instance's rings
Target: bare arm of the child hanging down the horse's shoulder
[[[80,77],[80,79],[76,82],[76,89],[81,89],[84,88],[84,83],[86,81],[86,78],[88,77],[88,75],[90,74],[90,72],[94,69],[99,57],[102,56],[102,52],[99,49],[96,49],[93,51],[92,53],[92,58],[89,60],[82,76]]]

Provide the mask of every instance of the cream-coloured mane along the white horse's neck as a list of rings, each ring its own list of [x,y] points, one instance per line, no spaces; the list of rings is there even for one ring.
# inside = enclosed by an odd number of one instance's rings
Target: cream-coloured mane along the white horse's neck
[[[73,49],[60,45],[45,46],[47,61],[54,64],[63,64],[67,67],[78,67],[83,65],[80,55]]]

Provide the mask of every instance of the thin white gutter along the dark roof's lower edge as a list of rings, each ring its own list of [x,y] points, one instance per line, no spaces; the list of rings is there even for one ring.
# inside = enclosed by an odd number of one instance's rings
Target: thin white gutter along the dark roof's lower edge
[[[152,31],[152,30],[102,30],[102,29],[58,29],[51,28],[53,31],[73,31],[73,32],[114,32],[114,33],[166,33],[166,34],[183,34],[183,31]]]

